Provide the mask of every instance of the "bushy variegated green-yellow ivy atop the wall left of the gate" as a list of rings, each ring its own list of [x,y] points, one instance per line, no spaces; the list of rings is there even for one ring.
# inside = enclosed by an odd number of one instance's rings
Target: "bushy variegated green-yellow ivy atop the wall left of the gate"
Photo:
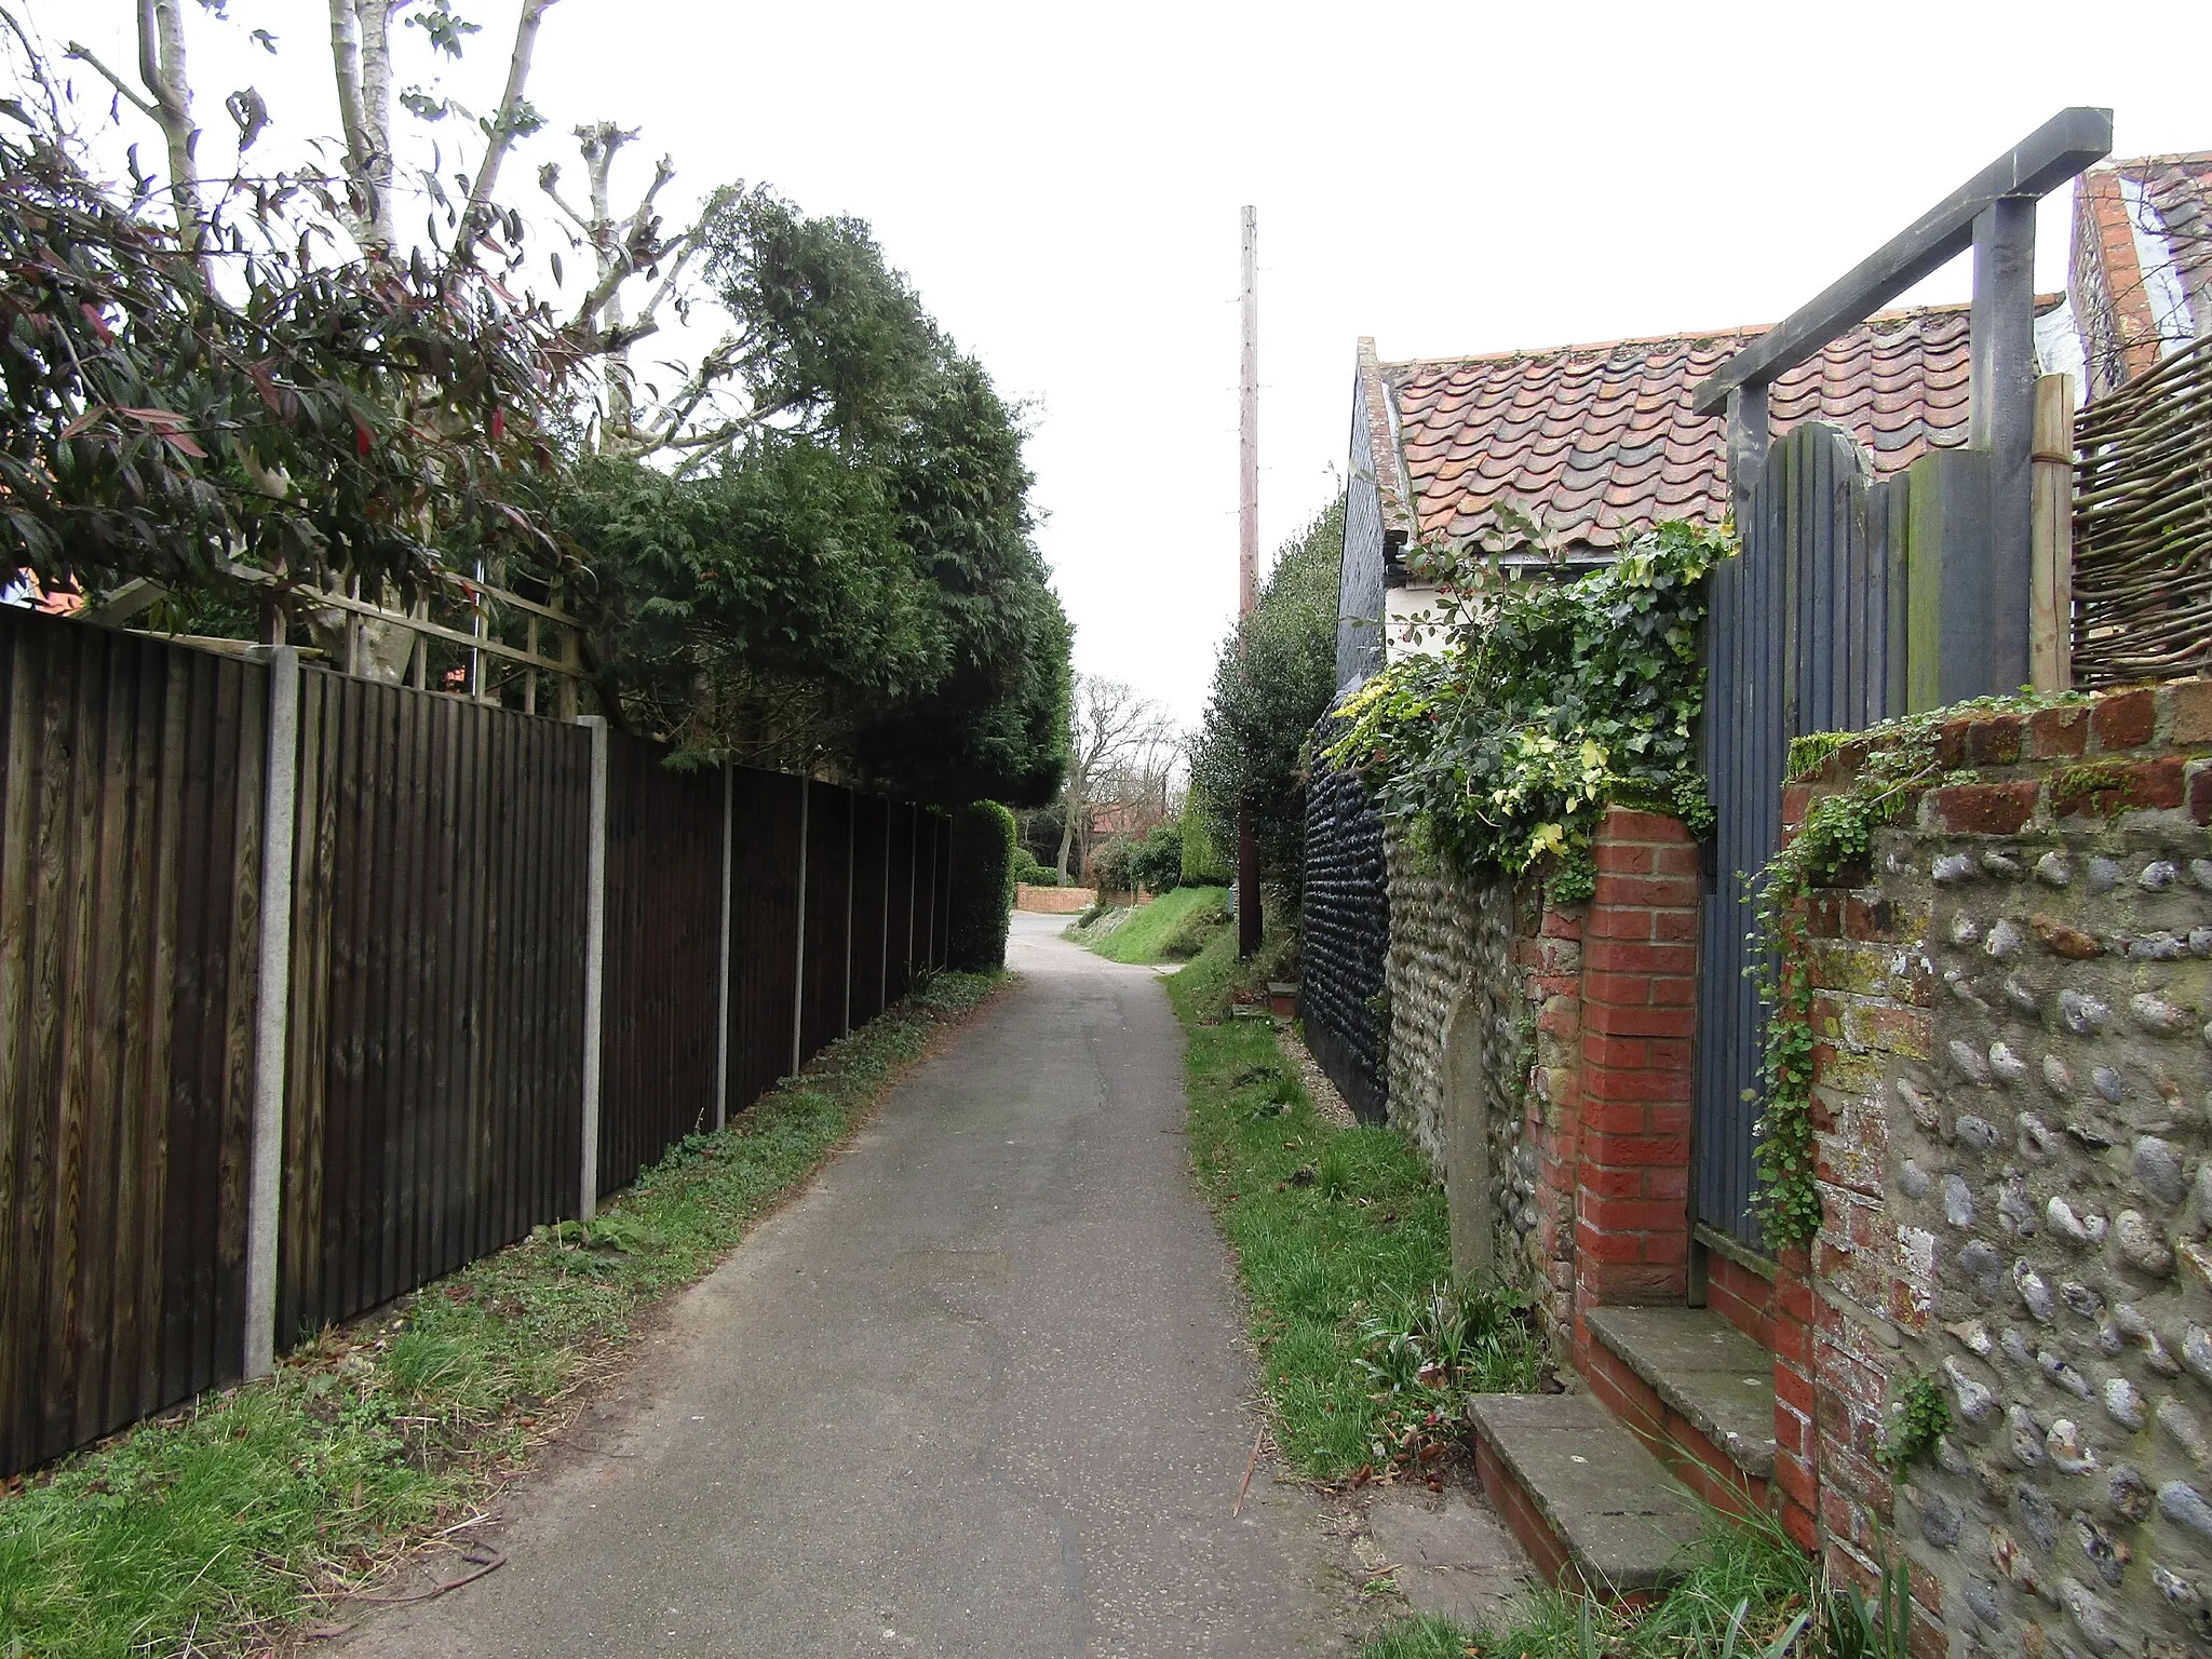
[[[1383,816],[1462,874],[1551,860],[1553,898],[1590,896],[1608,805],[1712,818],[1697,772],[1699,628],[1723,531],[1661,524],[1577,582],[1506,580],[1495,560],[1427,553],[1442,655],[1409,655],[1340,710],[1327,748]]]

